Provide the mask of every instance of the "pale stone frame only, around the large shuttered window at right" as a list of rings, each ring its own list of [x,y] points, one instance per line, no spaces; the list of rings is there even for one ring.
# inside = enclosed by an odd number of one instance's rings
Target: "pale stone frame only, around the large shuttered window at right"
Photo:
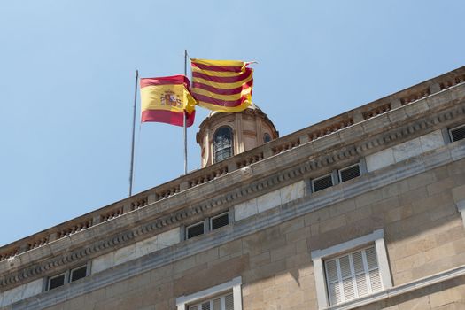
[[[338,257],[343,255],[345,252],[355,252],[357,249],[368,246],[369,244],[375,244],[376,259],[378,261],[381,283],[383,285],[382,291],[392,287],[391,270],[389,267],[386,246],[384,244],[384,229],[377,229],[369,235],[360,236],[342,244],[333,245],[323,250],[315,250],[311,252],[311,257],[314,263],[314,279],[316,283],[316,299],[318,301],[318,309],[329,307],[329,292],[326,280],[326,271],[324,268],[324,260]],[[380,291],[376,291],[376,293],[379,292]],[[364,295],[360,298],[365,298],[369,295]],[[358,298],[354,298],[351,300],[357,299]],[[347,302],[350,301],[348,300]],[[336,304],[333,306],[337,305],[341,304]]]

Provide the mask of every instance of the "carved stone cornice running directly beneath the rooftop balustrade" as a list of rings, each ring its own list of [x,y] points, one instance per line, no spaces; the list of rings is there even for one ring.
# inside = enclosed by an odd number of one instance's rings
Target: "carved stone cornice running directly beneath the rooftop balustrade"
[[[0,262],[2,291],[463,120],[465,84],[399,106]],[[258,148],[260,149],[260,148]],[[252,152],[253,151],[253,152]],[[254,154],[257,149],[252,150]],[[246,154],[250,155],[250,154]],[[237,156],[240,157],[241,155]],[[231,160],[237,160],[236,158]],[[203,169],[204,170],[204,169]],[[237,184],[241,184],[237,187]]]

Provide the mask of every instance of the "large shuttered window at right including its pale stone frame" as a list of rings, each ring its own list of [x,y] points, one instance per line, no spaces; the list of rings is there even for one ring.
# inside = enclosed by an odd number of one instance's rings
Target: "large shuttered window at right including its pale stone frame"
[[[392,287],[383,229],[311,255],[318,309]]]

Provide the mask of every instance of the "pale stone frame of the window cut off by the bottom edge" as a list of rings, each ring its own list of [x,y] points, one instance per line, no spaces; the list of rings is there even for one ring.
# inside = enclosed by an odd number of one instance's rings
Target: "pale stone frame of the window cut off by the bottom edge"
[[[242,277],[237,276],[227,283],[215,285],[209,289],[198,291],[187,296],[176,298],[177,310],[188,310],[190,305],[196,305],[202,300],[221,296],[228,291],[233,292],[234,310],[242,310]]]

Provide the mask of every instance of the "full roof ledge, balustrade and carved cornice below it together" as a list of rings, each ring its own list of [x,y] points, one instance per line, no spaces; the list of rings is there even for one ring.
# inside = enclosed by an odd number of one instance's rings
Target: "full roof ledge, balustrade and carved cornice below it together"
[[[458,80],[453,80],[456,83],[447,89],[419,97],[408,105],[398,103],[396,105],[399,107],[391,110],[380,108],[386,105],[386,100],[413,96],[417,88],[423,89],[425,85],[438,86],[438,83],[456,79],[457,76],[459,76]],[[0,287],[9,288],[34,280],[43,276],[44,270],[59,268],[69,262],[89,260],[113,251],[123,244],[142,240],[187,221],[195,221],[205,216],[204,213],[225,209],[258,197],[263,192],[322,174],[323,170],[333,168],[335,163],[343,164],[379,151],[393,143],[430,132],[438,126],[447,126],[465,113],[465,103],[458,104],[465,98],[464,81],[465,67],[461,67],[452,73],[444,74],[411,89],[246,151],[224,162],[5,245],[0,248],[0,273],[4,274],[3,279],[0,278]],[[377,109],[379,113],[385,114],[373,116],[376,111],[370,112],[366,114],[368,115],[366,120],[354,124],[343,120],[368,108]],[[326,127],[334,121],[339,125]],[[308,140],[313,139],[312,141],[302,144],[300,140],[297,142],[296,139],[301,136],[313,135],[316,129],[327,130],[323,130],[327,136],[311,136]],[[330,130],[333,129],[336,131],[331,132]],[[360,140],[360,137],[369,138]],[[265,154],[270,150],[281,150],[281,152],[272,151],[274,155],[253,163],[246,171],[229,169],[236,163],[244,162],[250,156],[254,157],[260,152]],[[223,173],[225,167],[228,168],[226,174]],[[192,185],[194,183],[190,183],[198,178],[202,178],[202,181],[195,183],[195,186]],[[182,184],[186,190],[181,191],[184,188]],[[243,185],[237,187],[237,184]],[[89,244],[92,244],[91,250],[82,252],[83,249],[89,249]],[[42,267],[33,265],[39,260],[42,260]]]

